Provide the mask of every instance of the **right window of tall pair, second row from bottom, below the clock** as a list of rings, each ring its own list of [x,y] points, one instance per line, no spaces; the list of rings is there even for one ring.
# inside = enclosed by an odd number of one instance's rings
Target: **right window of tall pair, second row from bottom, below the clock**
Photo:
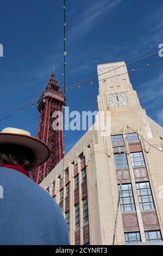
[[[137,195],[141,210],[154,209],[153,197],[149,182],[136,183]]]

